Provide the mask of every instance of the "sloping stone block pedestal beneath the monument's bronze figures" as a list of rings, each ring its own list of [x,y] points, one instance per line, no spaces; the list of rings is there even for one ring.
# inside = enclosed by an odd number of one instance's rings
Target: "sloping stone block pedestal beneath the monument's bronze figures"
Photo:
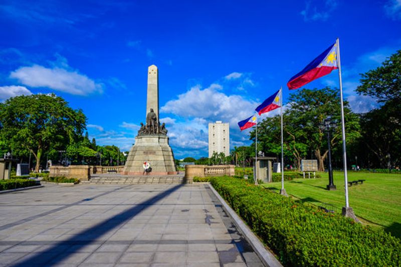
[[[168,137],[164,135],[144,135],[135,138],[122,174],[143,174],[143,163],[149,162],[150,175],[177,174],[174,156],[168,145]]]

